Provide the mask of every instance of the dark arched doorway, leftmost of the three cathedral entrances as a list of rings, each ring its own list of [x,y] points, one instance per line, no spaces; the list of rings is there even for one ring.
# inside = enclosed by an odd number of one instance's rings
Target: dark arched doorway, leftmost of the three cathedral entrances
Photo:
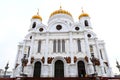
[[[40,77],[40,75],[41,75],[41,63],[37,61],[34,65],[33,77]]]

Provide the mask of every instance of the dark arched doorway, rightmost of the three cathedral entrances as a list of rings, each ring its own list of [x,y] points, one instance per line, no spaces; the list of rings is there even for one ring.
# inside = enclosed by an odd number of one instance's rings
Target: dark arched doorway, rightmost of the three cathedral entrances
[[[85,71],[85,64],[83,61],[79,61],[78,64],[78,77],[85,77],[86,71]]]

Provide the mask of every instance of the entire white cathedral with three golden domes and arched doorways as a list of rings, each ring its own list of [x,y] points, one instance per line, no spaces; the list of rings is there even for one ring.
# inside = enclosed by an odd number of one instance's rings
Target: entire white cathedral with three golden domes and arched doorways
[[[111,77],[103,40],[93,32],[89,14],[83,10],[74,22],[72,14],[53,11],[47,25],[39,12],[32,16],[28,34],[18,44],[13,77]]]

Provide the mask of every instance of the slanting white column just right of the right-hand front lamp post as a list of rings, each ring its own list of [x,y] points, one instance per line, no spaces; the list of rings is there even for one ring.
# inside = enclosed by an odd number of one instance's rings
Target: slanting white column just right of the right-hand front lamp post
[[[101,75],[104,75],[104,65],[103,65],[103,61],[101,59],[101,55],[100,55],[100,48],[98,46],[98,42],[97,42],[97,38],[95,39],[95,45],[96,45],[96,49],[97,49],[97,53],[98,53],[98,57],[99,57],[99,61],[100,61],[100,67],[101,67]]]

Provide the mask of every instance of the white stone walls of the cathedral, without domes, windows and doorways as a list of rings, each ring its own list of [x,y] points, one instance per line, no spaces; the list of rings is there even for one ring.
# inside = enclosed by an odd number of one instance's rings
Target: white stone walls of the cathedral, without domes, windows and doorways
[[[88,20],[89,26],[85,27],[84,20]],[[36,22],[36,27],[33,29],[32,24]],[[62,29],[57,30],[56,26],[61,25]],[[75,27],[79,27],[80,30],[75,30]],[[43,28],[44,31],[40,32],[39,28]],[[91,34],[88,38],[87,34]],[[32,39],[30,39],[32,36]],[[65,53],[53,53],[53,40],[65,40]],[[81,52],[78,52],[77,40],[81,41]],[[38,41],[41,41],[41,50],[38,53]],[[18,76],[21,70],[21,58],[24,54],[28,54],[28,47],[30,46],[30,56],[28,57],[27,66],[24,68],[24,73],[28,77],[33,77],[34,64],[36,61],[41,62],[41,77],[54,77],[54,65],[55,61],[61,60],[64,63],[64,77],[78,77],[78,61],[85,63],[86,74],[90,75],[94,73],[93,65],[90,60],[91,52],[89,45],[93,46],[93,53],[96,58],[100,60],[100,65],[96,66],[96,70],[99,76],[111,76],[109,66],[106,66],[104,62],[109,61],[106,55],[104,42],[99,41],[96,34],[92,31],[90,18],[83,17],[78,23],[75,23],[72,17],[68,15],[55,15],[48,21],[48,26],[42,24],[38,19],[32,19],[29,29],[29,34],[25,37],[25,40],[18,47],[16,63],[20,65],[14,69],[14,77]],[[27,48],[25,52],[25,48]],[[103,60],[101,59],[99,50],[102,50]],[[74,57],[77,57],[77,61],[74,63]],[[85,60],[85,56],[88,57],[88,62]],[[31,64],[31,57],[34,57],[34,61]],[[44,57],[44,62],[42,58]],[[48,57],[54,58],[51,64],[47,63]],[[64,57],[70,57],[71,62],[67,63]],[[106,73],[104,73],[104,68]]]

